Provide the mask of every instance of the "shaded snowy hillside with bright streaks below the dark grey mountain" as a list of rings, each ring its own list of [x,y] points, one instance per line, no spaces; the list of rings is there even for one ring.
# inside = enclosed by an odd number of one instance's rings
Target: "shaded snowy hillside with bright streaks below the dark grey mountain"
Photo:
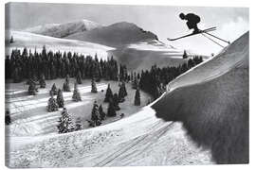
[[[132,71],[151,69],[154,64],[159,67],[177,66],[190,59],[182,58],[183,50],[175,49],[157,40],[122,45],[110,50],[109,54],[118,59],[120,63],[126,64],[127,68]]]

